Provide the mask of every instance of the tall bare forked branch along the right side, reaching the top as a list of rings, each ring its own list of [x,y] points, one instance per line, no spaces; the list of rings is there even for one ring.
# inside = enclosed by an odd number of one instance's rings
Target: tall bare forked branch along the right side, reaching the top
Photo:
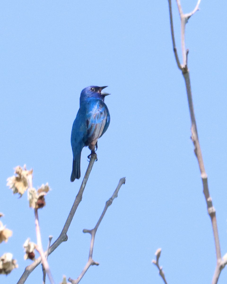
[[[169,1],[169,13],[170,13],[170,19],[172,19],[172,9],[171,9],[171,0]],[[194,106],[193,106],[193,101],[192,101],[192,90],[191,90],[191,83],[190,83],[190,74],[188,70],[188,50],[186,51],[185,48],[185,25],[188,21],[188,19],[199,9],[199,3],[200,0],[197,1],[195,9],[188,14],[184,14],[182,11],[182,7],[180,5],[180,0],[176,0],[178,11],[180,14],[180,20],[181,20],[181,47],[182,47],[182,57],[183,57],[183,65],[182,65],[182,74],[184,76],[184,81],[186,85],[186,91],[187,91],[187,96],[188,96],[188,105],[189,105],[189,110],[190,110],[190,117],[191,117],[191,131],[192,131],[192,142],[194,143],[194,152],[196,155],[196,158],[198,160],[199,164],[199,169],[201,173],[201,178],[203,182],[203,194],[206,199],[207,203],[207,211],[208,214],[211,218],[211,223],[212,223],[212,228],[213,228],[213,234],[214,234],[214,239],[215,239],[215,250],[216,250],[216,258],[217,258],[217,267],[215,269],[215,274],[213,277],[212,284],[217,284],[218,277],[220,275],[221,270],[224,268],[226,265],[226,262],[221,259],[221,250],[220,250],[220,242],[219,242],[219,237],[218,237],[218,228],[217,228],[217,219],[216,219],[216,211],[215,208],[212,204],[212,199],[210,197],[209,193],[209,188],[208,188],[208,180],[207,180],[207,173],[205,171],[205,166],[203,162],[203,157],[202,157],[202,152],[199,144],[199,138],[198,138],[198,131],[197,131],[197,126],[196,126],[196,118],[195,118],[195,113],[194,113]],[[173,28],[173,23],[171,23],[171,34]],[[173,41],[173,36],[172,36],[172,41]],[[173,45],[175,45],[175,41],[173,41]],[[177,63],[178,64],[178,63]]]

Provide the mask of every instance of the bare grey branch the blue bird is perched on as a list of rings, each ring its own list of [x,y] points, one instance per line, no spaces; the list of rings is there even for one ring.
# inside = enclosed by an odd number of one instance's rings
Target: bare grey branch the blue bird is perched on
[[[62,229],[62,232],[60,233],[59,237],[56,239],[56,241],[51,245],[50,249],[49,249],[49,253],[48,254],[51,254],[62,242],[65,242],[67,241],[68,239],[68,236],[66,235],[68,229],[69,229],[69,226],[72,222],[72,219],[73,219],[73,216],[77,210],[77,207],[79,205],[79,203],[81,202],[82,200],[82,195],[83,195],[83,191],[85,189],[85,185],[87,183],[87,180],[89,178],[89,175],[91,173],[91,170],[92,170],[92,167],[93,167],[93,164],[94,164],[94,161],[96,160],[97,158],[97,155],[96,154],[92,154],[91,155],[91,159],[90,159],[90,162],[89,162],[89,165],[87,167],[87,171],[85,173],[85,176],[83,178],[83,181],[82,181],[82,184],[81,184],[81,187],[79,189],[79,192],[75,198],[75,201],[73,203],[73,206],[69,212],[69,215],[68,215],[68,218],[66,220],[66,223]],[[45,255],[47,255],[47,251],[45,252]],[[24,282],[26,281],[26,279],[28,278],[28,276],[31,274],[31,272],[41,263],[41,257],[37,258],[32,264],[28,265],[25,270],[24,270],[24,273],[22,274],[22,276],[20,277],[19,281],[17,282],[17,284],[24,284]]]

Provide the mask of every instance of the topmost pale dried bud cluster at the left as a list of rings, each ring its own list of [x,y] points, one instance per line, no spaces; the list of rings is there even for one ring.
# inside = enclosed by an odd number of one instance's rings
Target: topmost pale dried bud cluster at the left
[[[26,170],[25,165],[24,169],[22,169],[20,166],[17,166],[15,168],[15,174],[16,176],[12,176],[7,179],[7,186],[12,189],[13,194],[19,193],[21,197],[28,189],[28,175],[32,174],[32,170]]]

